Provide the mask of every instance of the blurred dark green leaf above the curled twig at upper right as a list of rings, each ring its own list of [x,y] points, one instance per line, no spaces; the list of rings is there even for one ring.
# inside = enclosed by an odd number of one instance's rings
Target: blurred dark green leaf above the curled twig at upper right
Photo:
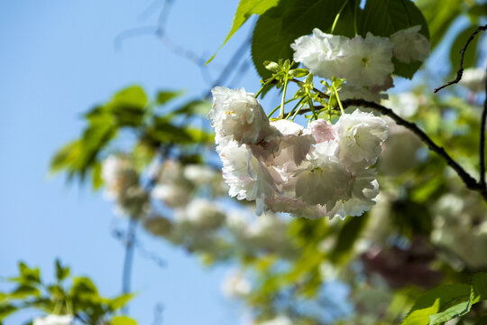
[[[450,49],[450,63],[452,64],[452,70],[456,72],[460,68],[460,51],[464,47],[465,42],[470,35],[477,29],[477,26],[467,26],[465,29],[458,33],[455,37],[455,41]],[[477,61],[477,44],[479,42],[479,36],[473,38],[473,41],[468,45],[467,50],[464,53],[464,68],[471,68],[475,66]]]

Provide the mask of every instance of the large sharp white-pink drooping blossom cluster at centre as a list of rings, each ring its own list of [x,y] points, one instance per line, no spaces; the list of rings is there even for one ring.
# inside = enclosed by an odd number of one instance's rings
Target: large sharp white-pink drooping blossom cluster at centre
[[[355,110],[335,125],[270,122],[253,94],[216,87],[209,113],[229,194],[304,218],[360,216],[378,194],[371,167],[387,125]]]

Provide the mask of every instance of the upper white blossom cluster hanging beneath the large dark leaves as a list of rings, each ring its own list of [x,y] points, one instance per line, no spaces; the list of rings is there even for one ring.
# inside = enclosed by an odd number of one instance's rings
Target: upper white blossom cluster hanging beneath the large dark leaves
[[[421,26],[400,30],[391,37],[366,36],[348,38],[328,34],[315,28],[312,35],[299,37],[291,48],[294,60],[303,63],[318,77],[346,79],[341,97],[380,101],[381,91],[393,86],[392,57],[404,63],[423,61],[430,44],[419,33]]]

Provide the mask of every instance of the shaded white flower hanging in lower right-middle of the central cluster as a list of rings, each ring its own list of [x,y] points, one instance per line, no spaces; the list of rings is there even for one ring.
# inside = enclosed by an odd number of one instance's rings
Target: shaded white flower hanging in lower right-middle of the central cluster
[[[348,199],[352,174],[336,157],[335,142],[317,144],[309,163],[296,173],[296,197],[310,205],[332,209],[336,201]]]

